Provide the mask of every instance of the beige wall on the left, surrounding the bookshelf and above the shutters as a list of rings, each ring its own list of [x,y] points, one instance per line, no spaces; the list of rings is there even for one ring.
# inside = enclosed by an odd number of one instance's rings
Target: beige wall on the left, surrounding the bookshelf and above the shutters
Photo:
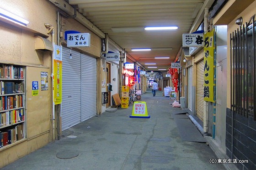
[[[27,137],[0,149],[0,168],[35,151],[53,140],[52,127],[52,52],[35,50],[35,36],[42,36],[57,44],[57,11],[48,0],[2,0],[0,8],[11,11],[29,21],[27,26],[0,18],[0,63],[26,66]],[[54,27],[54,36],[48,35],[44,24]],[[91,46],[76,50],[100,57],[101,39],[73,18],[61,18],[62,31],[75,30],[91,34]],[[63,46],[66,45],[65,41]],[[98,62],[98,68],[101,65]],[[97,68],[97,69],[98,69]],[[41,72],[48,72],[48,90],[41,91]],[[101,74],[101,72],[100,72]],[[32,81],[39,83],[39,93],[32,96]],[[100,82],[101,83],[101,82]],[[97,93],[101,93],[98,88]],[[100,98],[101,95],[98,95]],[[97,99],[98,99],[97,98]],[[100,100],[101,101],[101,100]],[[97,111],[101,111],[97,107]]]

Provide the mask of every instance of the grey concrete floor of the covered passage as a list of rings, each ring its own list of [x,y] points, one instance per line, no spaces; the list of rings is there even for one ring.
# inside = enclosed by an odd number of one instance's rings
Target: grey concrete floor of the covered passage
[[[170,98],[142,95],[150,118],[129,118],[133,106],[104,112],[2,170],[224,170],[206,143],[184,142]]]

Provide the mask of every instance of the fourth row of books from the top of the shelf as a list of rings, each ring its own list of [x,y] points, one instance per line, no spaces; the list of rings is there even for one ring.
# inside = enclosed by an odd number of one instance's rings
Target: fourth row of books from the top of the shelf
[[[0,113],[0,127],[16,124],[24,120],[25,114],[23,108]]]

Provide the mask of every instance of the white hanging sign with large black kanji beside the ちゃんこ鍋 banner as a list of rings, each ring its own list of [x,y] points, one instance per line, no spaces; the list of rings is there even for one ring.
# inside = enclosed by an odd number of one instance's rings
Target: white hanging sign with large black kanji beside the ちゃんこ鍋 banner
[[[182,34],[182,47],[203,46],[203,34]]]

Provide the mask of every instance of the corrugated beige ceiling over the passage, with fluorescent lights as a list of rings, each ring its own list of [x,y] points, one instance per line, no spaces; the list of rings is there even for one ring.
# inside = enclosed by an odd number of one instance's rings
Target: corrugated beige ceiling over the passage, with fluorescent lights
[[[168,69],[171,66],[171,62],[175,60],[181,49],[182,34],[197,29],[203,21],[202,11],[206,3],[211,6],[213,1],[67,0],[69,5],[76,5],[85,18],[102,32],[107,33],[118,46],[125,49],[129,58],[138,61],[149,71]],[[201,13],[201,16],[198,13]],[[195,27],[196,24],[197,27]],[[145,26],[178,26],[178,29],[144,31]],[[123,27],[130,28],[131,31],[112,31],[112,28]],[[152,51],[132,52],[132,48],[152,48]],[[155,59],[154,57],[170,57],[170,59]],[[156,63],[157,68],[148,69],[149,65],[144,65],[147,62]]]

